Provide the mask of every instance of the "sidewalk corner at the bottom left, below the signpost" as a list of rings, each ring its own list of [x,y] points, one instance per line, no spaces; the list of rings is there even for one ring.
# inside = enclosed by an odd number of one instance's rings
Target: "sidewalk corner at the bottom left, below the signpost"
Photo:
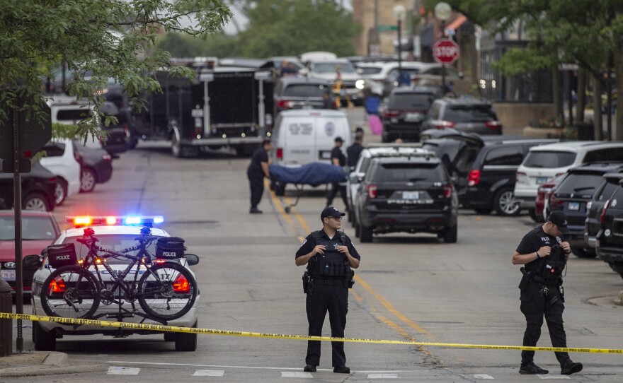
[[[108,370],[108,365],[105,363],[99,365],[69,363],[66,353],[55,351],[13,353],[0,358],[0,378],[77,374],[105,370]]]

